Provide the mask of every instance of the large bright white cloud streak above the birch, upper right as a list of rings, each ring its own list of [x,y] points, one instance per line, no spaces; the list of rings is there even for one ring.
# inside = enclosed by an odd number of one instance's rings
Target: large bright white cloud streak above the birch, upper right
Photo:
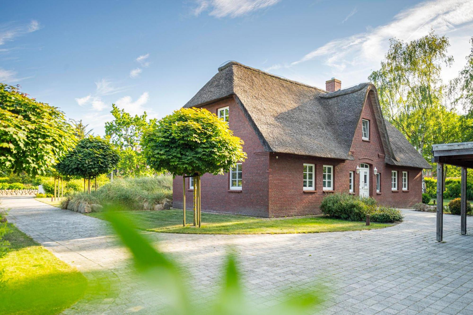
[[[312,80],[324,82],[325,79],[335,76],[355,84],[366,81],[371,70],[379,68],[380,61],[388,50],[390,38],[413,40],[427,35],[431,28],[438,35],[447,35],[450,39],[451,47],[448,53],[454,56],[455,63],[451,69],[445,68],[442,77],[444,81],[452,79],[464,66],[464,57],[470,47],[467,37],[473,34],[471,0],[421,2],[399,12],[385,25],[368,29],[364,33],[334,39],[297,61],[275,64],[268,69],[282,69],[286,72],[291,67],[313,61],[320,65],[317,74],[311,75]],[[307,69],[307,65],[304,68]]]

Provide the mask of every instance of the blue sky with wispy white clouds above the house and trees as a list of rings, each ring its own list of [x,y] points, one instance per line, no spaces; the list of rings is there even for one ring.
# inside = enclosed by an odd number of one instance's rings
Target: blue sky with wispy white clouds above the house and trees
[[[236,60],[317,87],[377,70],[389,38],[432,27],[451,41],[453,78],[473,35],[467,0],[9,1],[0,20],[0,82],[21,85],[104,133],[111,104],[162,117]]]

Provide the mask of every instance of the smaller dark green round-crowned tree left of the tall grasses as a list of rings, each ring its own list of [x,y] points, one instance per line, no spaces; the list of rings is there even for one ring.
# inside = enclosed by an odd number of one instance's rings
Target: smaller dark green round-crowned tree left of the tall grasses
[[[109,173],[119,160],[120,155],[110,142],[91,136],[80,140],[56,165],[56,170],[63,175],[88,178],[87,191],[90,193],[90,178]]]

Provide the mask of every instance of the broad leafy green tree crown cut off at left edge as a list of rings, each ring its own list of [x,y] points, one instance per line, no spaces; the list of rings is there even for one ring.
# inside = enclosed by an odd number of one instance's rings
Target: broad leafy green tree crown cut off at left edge
[[[76,143],[57,107],[0,83],[0,171],[43,175]]]

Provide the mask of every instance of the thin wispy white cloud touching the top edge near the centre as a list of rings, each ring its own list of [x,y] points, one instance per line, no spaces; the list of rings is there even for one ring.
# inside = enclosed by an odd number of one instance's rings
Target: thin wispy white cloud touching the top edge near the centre
[[[197,7],[192,10],[198,16],[203,11],[210,10],[213,17],[239,17],[275,5],[280,0],[197,0]]]

